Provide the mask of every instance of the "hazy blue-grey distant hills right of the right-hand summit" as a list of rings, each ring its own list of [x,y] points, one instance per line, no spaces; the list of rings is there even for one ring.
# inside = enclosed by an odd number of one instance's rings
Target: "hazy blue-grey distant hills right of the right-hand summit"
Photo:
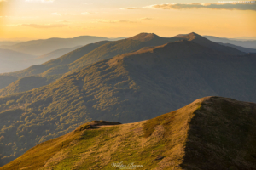
[[[222,42],[222,43],[230,43],[236,46],[241,46],[243,48],[256,48],[256,40],[234,40],[224,37],[213,37],[213,36],[204,36],[212,42]]]

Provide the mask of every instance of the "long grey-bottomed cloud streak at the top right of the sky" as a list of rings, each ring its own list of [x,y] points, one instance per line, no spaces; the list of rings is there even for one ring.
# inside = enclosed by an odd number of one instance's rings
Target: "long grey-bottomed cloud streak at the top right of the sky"
[[[191,8],[210,8],[227,10],[254,10],[256,11],[255,1],[250,3],[166,3],[154,4],[142,8],[160,8],[160,9],[191,9]],[[121,8],[121,9],[142,9],[142,8]]]

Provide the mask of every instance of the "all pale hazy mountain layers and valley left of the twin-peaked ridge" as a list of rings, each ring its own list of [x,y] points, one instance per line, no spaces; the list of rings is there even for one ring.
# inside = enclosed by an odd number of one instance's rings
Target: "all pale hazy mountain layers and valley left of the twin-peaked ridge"
[[[29,42],[0,42],[0,73],[20,71],[56,59],[85,44],[108,39],[106,37],[74,37],[32,40]],[[3,80],[4,81],[4,80]],[[0,87],[1,88],[1,87]]]

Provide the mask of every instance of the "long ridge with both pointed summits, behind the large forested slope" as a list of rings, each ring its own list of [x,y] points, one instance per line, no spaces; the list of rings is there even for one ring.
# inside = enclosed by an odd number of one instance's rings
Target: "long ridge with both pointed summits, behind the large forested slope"
[[[56,78],[61,77],[64,74],[71,74],[73,71],[79,71],[80,69],[94,64],[97,61],[102,59],[109,59],[118,54],[130,53],[132,51],[137,51],[138,49],[152,46],[163,45],[167,42],[175,42],[181,40],[189,40],[192,42],[196,42],[205,46],[207,48],[212,48],[214,50],[218,50],[221,53],[226,54],[245,54],[236,48],[230,48],[226,46],[219,45],[218,43],[211,42],[207,40],[205,37],[201,37],[198,34],[190,33],[185,36],[177,36],[171,38],[159,37],[155,34],[141,33],[135,37],[127,38],[124,40],[119,40],[115,42],[97,42],[92,43],[83,48],[79,48],[61,56],[58,59],[50,60],[49,62],[44,63],[43,65],[34,65],[23,71],[16,71],[9,74],[5,74],[5,76],[9,77],[28,77],[28,76],[39,76],[39,77],[48,77],[55,76]],[[0,79],[3,79],[0,75]],[[31,79],[32,80],[32,79]],[[42,86],[45,84],[42,84]],[[29,88],[31,87],[31,88]],[[1,87],[0,88],[5,88]],[[21,92],[17,91],[12,85],[9,85],[8,92]],[[20,88],[25,89],[25,88]],[[32,89],[32,86],[28,85],[26,89]],[[3,91],[3,90],[2,90]],[[3,94],[3,93],[1,93]],[[8,94],[8,93],[4,93]]]

